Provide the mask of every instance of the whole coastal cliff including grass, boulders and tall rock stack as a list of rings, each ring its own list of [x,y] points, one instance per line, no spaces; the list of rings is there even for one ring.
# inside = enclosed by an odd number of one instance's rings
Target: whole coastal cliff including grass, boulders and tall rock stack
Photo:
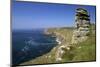
[[[77,9],[75,27],[49,28],[44,34],[56,37],[57,46],[20,65],[96,60],[95,24],[90,23],[85,9]]]

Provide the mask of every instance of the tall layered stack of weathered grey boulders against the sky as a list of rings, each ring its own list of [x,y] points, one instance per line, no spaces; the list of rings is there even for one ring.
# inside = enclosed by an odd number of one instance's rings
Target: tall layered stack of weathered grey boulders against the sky
[[[90,18],[87,10],[83,8],[76,9],[75,28],[72,36],[72,44],[85,41],[90,32]]]

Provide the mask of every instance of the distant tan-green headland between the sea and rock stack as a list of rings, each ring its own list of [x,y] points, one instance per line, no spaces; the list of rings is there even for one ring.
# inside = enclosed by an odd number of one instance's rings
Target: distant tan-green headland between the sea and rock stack
[[[57,37],[60,36],[60,38],[62,37],[64,39],[64,42],[71,42],[72,40],[72,35],[73,35],[73,27],[62,27],[62,28],[50,28],[48,29],[48,32],[50,33],[54,33],[57,35]]]

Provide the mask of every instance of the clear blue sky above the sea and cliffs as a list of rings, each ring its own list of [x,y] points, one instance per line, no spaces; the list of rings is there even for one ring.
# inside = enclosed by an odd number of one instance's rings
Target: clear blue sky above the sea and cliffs
[[[13,1],[12,29],[74,26],[77,8],[85,8],[95,23],[95,6]]]

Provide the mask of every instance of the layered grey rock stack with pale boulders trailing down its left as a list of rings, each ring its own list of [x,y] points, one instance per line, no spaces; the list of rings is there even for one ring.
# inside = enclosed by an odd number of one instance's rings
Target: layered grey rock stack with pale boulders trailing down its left
[[[85,41],[88,38],[89,32],[90,19],[87,10],[83,8],[76,9],[75,30],[73,30],[72,41],[66,43],[66,45],[61,45],[58,48],[55,56],[56,61],[62,61],[62,56],[65,53],[65,50],[69,51],[71,49],[71,44],[78,44]]]

